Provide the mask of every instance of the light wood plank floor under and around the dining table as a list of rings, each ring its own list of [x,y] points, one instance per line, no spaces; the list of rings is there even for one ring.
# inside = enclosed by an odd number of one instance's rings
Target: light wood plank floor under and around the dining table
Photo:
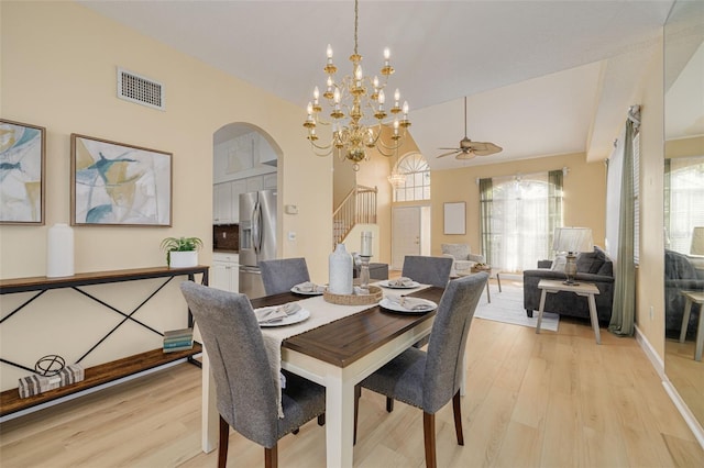
[[[704,453],[635,339],[561,320],[558,333],[476,319],[468,343],[464,447],[438,415],[440,467],[702,467]],[[422,467],[422,417],[364,392],[354,466]],[[212,467],[200,452],[200,370],[183,364],[0,425],[11,467]],[[264,450],[230,436],[231,467]],[[323,467],[315,422],[279,442],[282,467]]]

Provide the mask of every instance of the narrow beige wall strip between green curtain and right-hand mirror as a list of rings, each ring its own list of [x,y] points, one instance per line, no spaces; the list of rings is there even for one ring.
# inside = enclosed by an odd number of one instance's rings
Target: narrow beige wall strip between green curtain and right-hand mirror
[[[662,48],[659,47],[632,100],[641,105],[641,230],[640,267],[636,280],[636,323],[661,359],[664,358],[662,69]]]

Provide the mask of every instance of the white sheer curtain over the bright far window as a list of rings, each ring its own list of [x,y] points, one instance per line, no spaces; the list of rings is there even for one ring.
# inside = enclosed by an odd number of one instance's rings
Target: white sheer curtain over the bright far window
[[[493,266],[504,271],[536,268],[549,258],[548,174],[495,177],[491,216]]]

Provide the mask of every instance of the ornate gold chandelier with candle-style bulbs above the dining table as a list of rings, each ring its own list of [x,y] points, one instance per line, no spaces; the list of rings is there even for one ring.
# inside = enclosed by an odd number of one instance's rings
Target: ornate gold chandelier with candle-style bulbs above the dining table
[[[328,45],[328,62],[324,73],[328,75],[326,90],[322,98],[328,103],[330,121],[320,118],[322,105],[320,91],[314,89],[312,101],[308,102],[308,118],[304,126],[308,129],[308,141],[311,149],[318,156],[328,156],[332,153],[341,159],[353,163],[353,169],[360,169],[360,161],[369,160],[366,149],[376,149],[384,156],[392,156],[393,152],[403,145],[406,129],[410,126],[408,120],[408,102],[400,102],[398,89],[394,92],[394,105],[385,109],[386,96],[384,89],[388,77],[394,73],[391,66],[388,47],[384,49],[384,66],[381,69],[382,80],[378,77],[370,78],[362,71],[362,56],[358,53],[358,0],[354,1],[354,53],[350,56],[352,62],[352,75],[346,75],[336,81],[334,74],[338,67],[332,62],[332,47]],[[388,119],[387,119],[388,118]],[[393,118],[393,122],[392,122]],[[384,125],[392,125],[388,140],[382,138]],[[318,125],[332,125],[332,137],[328,143],[319,142],[316,133]]]

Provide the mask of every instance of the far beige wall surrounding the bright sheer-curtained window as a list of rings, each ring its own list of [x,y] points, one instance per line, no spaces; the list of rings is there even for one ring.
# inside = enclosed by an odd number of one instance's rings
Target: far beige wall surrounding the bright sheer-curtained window
[[[606,218],[606,167],[603,161],[587,164],[586,156],[580,153],[433,171],[431,174],[432,255],[440,254],[442,243],[468,243],[473,253],[481,253],[477,179],[557,170],[563,167],[569,169],[563,180],[564,225],[591,227],[594,243],[603,247]],[[464,236],[443,234],[443,203],[455,201],[466,203],[466,235]]]

